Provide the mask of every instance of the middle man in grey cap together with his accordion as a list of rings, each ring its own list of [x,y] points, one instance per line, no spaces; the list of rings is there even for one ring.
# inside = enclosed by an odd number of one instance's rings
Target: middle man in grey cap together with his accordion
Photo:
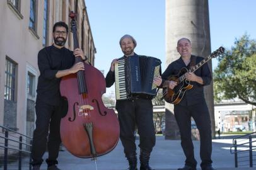
[[[139,160],[141,170],[152,170],[149,157],[156,143],[151,99],[156,95],[154,76],[158,74],[161,61],[134,53],[137,43],[131,35],[120,38],[123,57],[113,59],[106,76],[107,88],[115,82],[116,105],[119,113],[120,140],[124,146],[129,170],[137,169],[134,130],[139,133]]]

